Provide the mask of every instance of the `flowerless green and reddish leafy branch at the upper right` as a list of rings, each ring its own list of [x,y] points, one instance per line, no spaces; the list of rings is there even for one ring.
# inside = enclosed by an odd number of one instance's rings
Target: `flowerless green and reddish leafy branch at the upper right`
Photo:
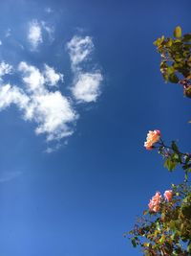
[[[154,44],[161,56],[160,72],[165,81],[180,83],[184,95],[191,98],[191,34],[181,35],[180,26],[174,37],[159,37]]]

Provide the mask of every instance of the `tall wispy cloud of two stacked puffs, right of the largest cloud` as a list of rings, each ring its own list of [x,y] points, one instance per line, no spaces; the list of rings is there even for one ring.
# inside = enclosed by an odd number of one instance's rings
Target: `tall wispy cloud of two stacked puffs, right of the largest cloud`
[[[74,36],[67,44],[69,50],[72,69],[74,72],[74,85],[72,92],[74,99],[78,103],[96,102],[100,94],[100,84],[103,81],[100,70],[93,69],[88,72],[81,65],[90,59],[94,51],[94,43],[90,36]]]

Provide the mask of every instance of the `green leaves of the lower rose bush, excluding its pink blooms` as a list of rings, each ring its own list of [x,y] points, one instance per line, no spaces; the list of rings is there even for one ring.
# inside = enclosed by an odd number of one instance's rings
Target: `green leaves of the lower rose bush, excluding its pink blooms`
[[[187,176],[191,155],[180,152],[175,142],[168,147],[160,140],[153,149],[158,149],[170,172],[180,165],[185,179],[180,185],[172,184],[172,199],[161,197],[158,211],[145,210],[128,234],[145,256],[191,255],[191,186]]]

